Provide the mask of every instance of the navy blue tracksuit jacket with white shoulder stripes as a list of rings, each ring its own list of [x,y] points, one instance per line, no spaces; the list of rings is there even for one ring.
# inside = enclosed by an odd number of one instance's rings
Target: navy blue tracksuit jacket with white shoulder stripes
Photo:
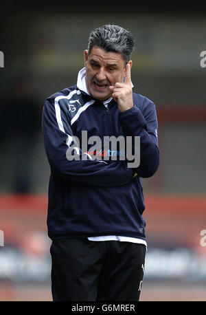
[[[119,112],[113,99],[106,109],[76,85],[45,101],[43,135],[51,168],[47,215],[51,239],[101,235],[146,239],[141,177],[151,177],[159,166],[157,114],[148,98],[133,93],[133,101],[134,107],[124,112]],[[79,160],[68,160],[72,136],[81,140],[82,131],[87,131],[88,138],[98,135],[102,143],[105,135],[140,136],[139,166],[128,168],[127,161],[119,159],[91,160],[81,148]]]

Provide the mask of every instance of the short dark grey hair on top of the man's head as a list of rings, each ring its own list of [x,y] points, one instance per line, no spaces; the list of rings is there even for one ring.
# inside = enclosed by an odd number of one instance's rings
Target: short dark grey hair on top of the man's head
[[[118,52],[127,64],[134,50],[133,35],[119,25],[104,25],[89,34],[88,54],[93,46],[105,52]]]

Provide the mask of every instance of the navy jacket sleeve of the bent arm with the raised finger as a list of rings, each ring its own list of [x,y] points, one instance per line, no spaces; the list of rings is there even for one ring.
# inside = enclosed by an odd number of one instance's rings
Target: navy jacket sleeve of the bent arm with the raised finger
[[[155,104],[149,102],[144,114],[137,106],[119,113],[119,121],[124,135],[132,138],[133,153],[135,151],[134,136],[140,137],[140,163],[135,168],[140,177],[151,177],[159,167],[160,153],[157,140],[157,113]]]

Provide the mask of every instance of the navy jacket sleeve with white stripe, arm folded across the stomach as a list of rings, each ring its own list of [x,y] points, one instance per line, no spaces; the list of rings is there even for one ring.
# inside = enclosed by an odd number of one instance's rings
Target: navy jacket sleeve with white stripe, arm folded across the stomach
[[[81,153],[79,160],[68,160],[67,149],[73,136],[71,127],[69,132],[61,130],[56,119],[54,100],[47,99],[43,107],[43,137],[45,151],[49,160],[52,174],[64,178],[69,182],[94,186],[122,186],[133,179],[134,171],[129,169],[125,161],[91,160],[87,153]]]

